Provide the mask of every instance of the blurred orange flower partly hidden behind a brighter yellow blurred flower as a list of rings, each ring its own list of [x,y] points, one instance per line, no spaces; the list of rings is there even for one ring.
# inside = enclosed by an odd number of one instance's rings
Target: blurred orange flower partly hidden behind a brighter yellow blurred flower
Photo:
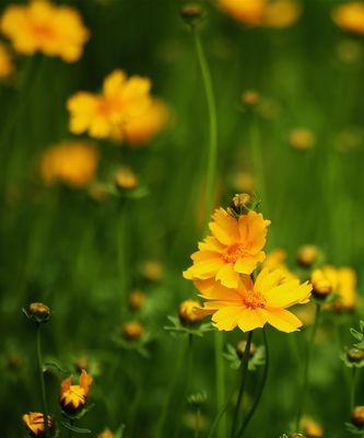
[[[126,124],[126,141],[133,146],[148,143],[165,126],[168,115],[167,106],[160,100],[153,100],[143,114]]]

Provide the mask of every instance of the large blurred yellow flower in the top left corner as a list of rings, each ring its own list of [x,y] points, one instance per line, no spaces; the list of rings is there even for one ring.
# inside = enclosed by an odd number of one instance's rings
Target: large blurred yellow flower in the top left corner
[[[1,19],[2,33],[16,51],[59,56],[67,62],[77,61],[89,39],[77,10],[55,5],[45,0],[33,0],[27,5],[9,5]]]

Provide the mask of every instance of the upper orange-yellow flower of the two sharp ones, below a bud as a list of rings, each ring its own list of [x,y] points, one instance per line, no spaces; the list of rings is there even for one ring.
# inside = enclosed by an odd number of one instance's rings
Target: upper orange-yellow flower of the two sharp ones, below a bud
[[[199,243],[199,251],[191,255],[193,265],[184,272],[184,277],[214,278],[223,286],[236,288],[239,274],[251,274],[263,262],[270,221],[256,211],[235,218],[223,208],[216,209],[212,218],[212,235]]]

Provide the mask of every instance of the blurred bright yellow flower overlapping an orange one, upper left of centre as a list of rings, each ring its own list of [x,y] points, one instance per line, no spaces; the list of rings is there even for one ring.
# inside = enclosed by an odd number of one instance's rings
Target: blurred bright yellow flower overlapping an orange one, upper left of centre
[[[101,94],[80,91],[68,100],[71,132],[121,140],[127,124],[150,110],[150,89],[146,78],[113,71],[105,78]]]

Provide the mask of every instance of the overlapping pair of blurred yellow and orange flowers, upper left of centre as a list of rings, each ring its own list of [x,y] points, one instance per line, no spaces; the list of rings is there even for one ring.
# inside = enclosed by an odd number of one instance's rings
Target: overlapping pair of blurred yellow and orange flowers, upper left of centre
[[[149,141],[167,119],[166,106],[150,95],[150,89],[148,78],[113,71],[101,94],[81,91],[68,100],[71,132],[132,145]]]

